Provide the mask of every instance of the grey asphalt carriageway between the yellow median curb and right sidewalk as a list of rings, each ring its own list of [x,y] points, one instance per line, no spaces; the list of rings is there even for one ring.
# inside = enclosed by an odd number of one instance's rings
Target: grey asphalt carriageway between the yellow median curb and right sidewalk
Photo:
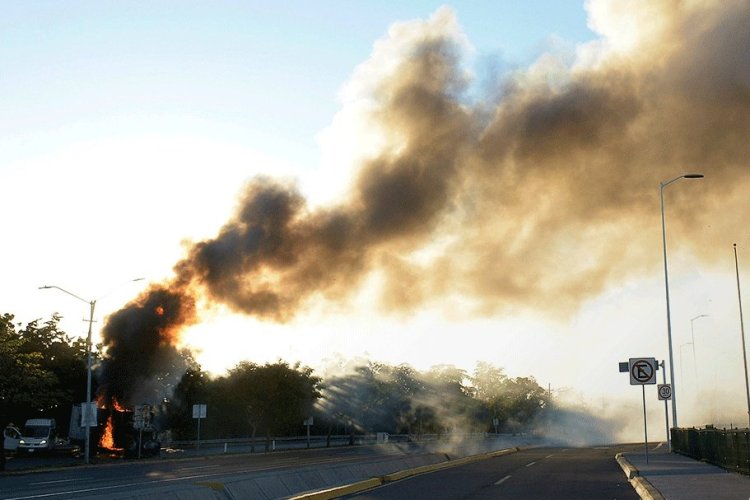
[[[388,483],[347,498],[638,499],[614,459],[633,446],[534,448]]]

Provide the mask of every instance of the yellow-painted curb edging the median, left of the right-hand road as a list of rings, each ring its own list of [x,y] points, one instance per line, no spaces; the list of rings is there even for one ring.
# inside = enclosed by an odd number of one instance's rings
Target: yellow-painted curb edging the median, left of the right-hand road
[[[449,467],[457,467],[459,465],[465,465],[465,464],[469,464],[473,462],[478,462],[480,460],[487,460],[488,458],[495,458],[495,457],[502,457],[503,455],[510,455],[511,453],[516,453],[520,449],[521,448],[516,446],[514,448],[492,451],[489,453],[482,453],[480,455],[472,455],[469,457],[459,458],[456,460],[451,460],[450,457],[447,457],[446,455],[446,457],[449,460],[448,462],[441,462],[438,464],[423,465],[421,467],[405,469],[402,471],[393,472],[391,474],[386,474],[384,476],[373,477],[371,479],[365,479],[364,481],[357,481],[356,483],[345,484],[343,486],[335,486],[333,488],[326,488],[324,490],[313,491],[310,493],[303,493],[301,495],[295,495],[289,498],[290,500],[331,500],[334,498],[339,498],[344,495],[350,495],[352,493],[359,493],[361,491],[369,490],[371,488],[376,488],[378,486],[382,486],[385,483],[399,481],[401,479],[406,479],[407,477],[416,476],[418,474],[435,472],[438,470],[447,469]]]

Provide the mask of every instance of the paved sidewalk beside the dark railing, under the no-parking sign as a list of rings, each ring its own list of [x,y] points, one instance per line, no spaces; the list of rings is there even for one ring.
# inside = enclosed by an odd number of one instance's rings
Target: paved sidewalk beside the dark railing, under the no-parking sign
[[[649,450],[648,464],[645,452],[628,452],[622,455],[638,469],[640,477],[658,490],[655,495],[639,491],[641,498],[659,498],[659,493],[667,500],[750,498],[750,476],[728,472],[715,465],[669,453],[665,447]],[[637,482],[632,484],[634,487],[640,486]],[[653,492],[653,489],[651,491]]]

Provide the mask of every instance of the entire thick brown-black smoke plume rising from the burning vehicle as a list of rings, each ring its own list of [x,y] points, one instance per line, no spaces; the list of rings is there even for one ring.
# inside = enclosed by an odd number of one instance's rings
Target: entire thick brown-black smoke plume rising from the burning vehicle
[[[478,313],[569,314],[658,268],[659,182],[686,172],[706,178],[666,190],[670,245],[726,257],[747,239],[750,215],[750,5],[588,9],[600,39],[572,65],[547,54],[479,96],[451,11],[395,25],[357,70],[342,112],[377,145],[348,195],[312,207],[292,184],[250,182],[173,283],[110,319],[104,373],[124,380],[114,365],[130,343],[158,347],[139,351],[151,366],[145,358],[195,321],[196,296],[283,322],[378,276],[391,310],[455,295]],[[153,317],[162,301],[164,316]]]

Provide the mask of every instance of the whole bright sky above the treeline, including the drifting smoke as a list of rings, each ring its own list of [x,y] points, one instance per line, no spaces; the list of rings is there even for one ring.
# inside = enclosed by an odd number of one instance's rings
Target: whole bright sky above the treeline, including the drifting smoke
[[[486,361],[637,427],[659,186],[700,172],[664,189],[680,424],[746,425],[745,2],[2,4],[1,312],[96,300],[101,341],[172,290],[215,374]]]

